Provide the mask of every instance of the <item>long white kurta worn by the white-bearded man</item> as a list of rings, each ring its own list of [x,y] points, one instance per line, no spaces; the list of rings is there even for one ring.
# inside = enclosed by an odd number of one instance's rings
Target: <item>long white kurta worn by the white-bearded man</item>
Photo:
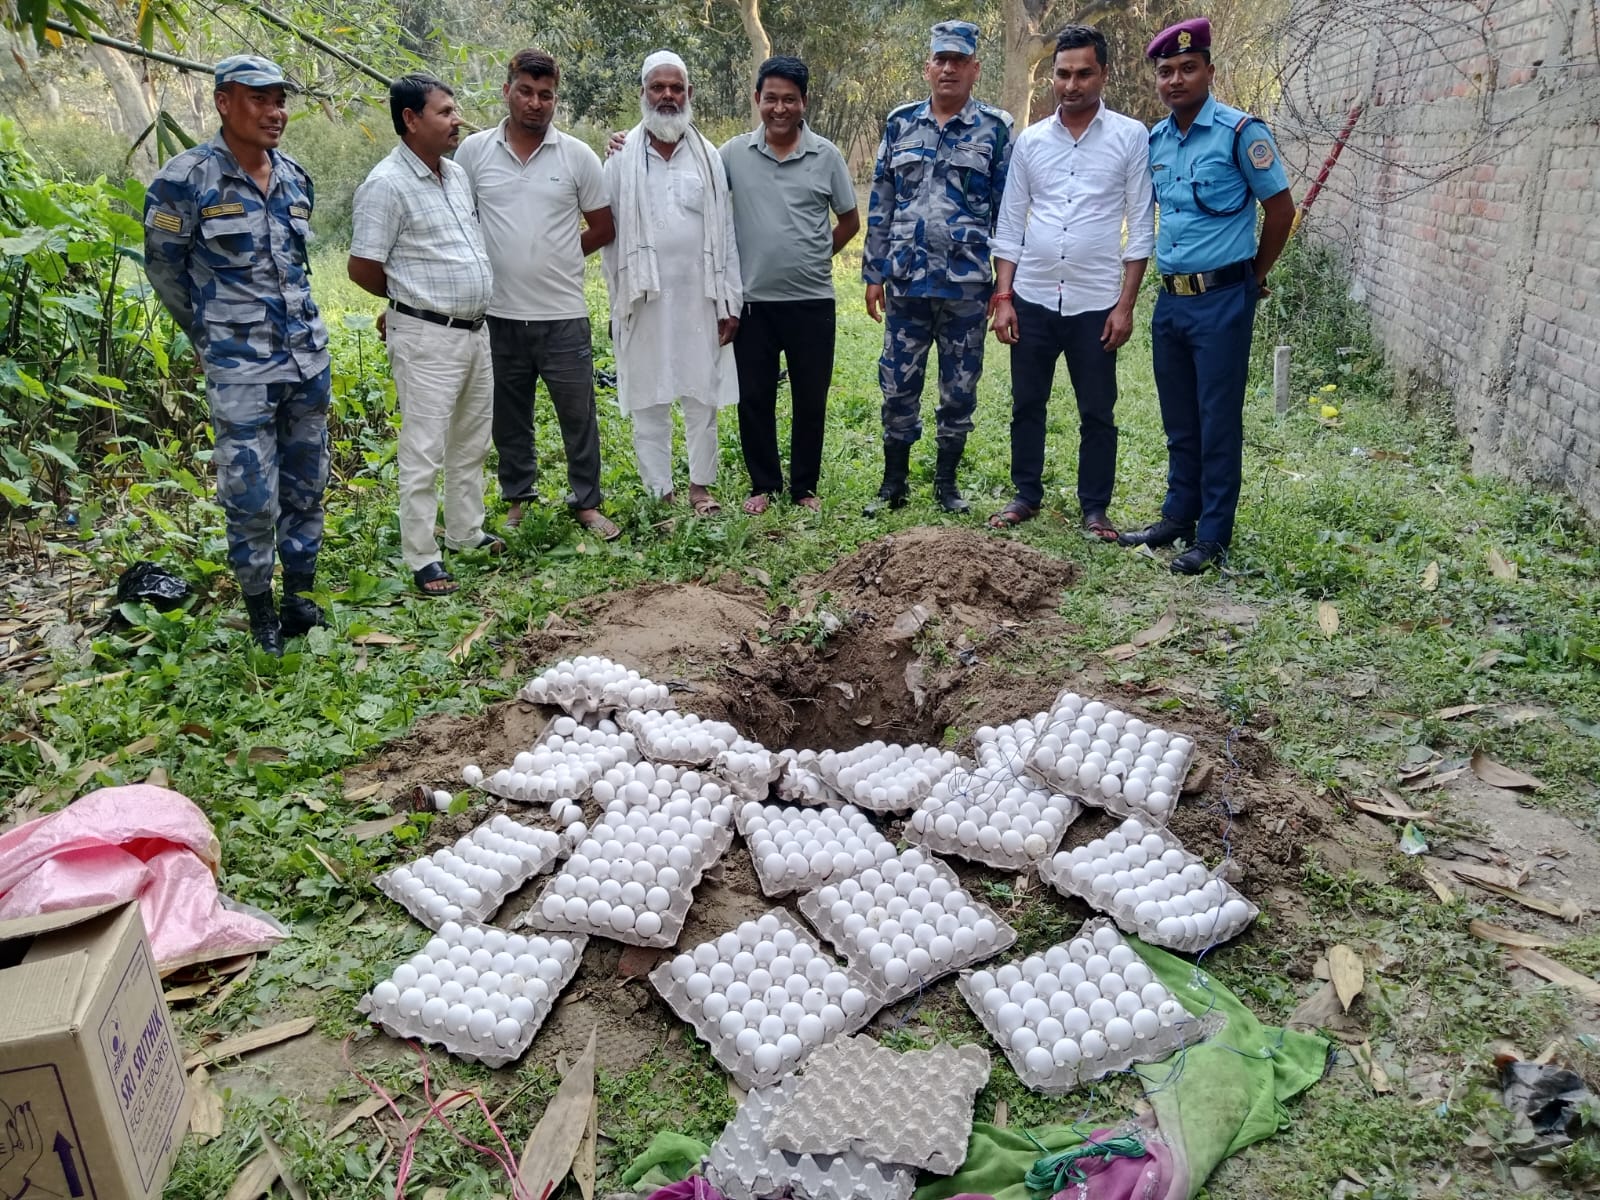
[[[722,170],[715,154],[712,166]],[[670,158],[650,146],[645,171],[661,294],[634,306],[621,328],[613,330],[618,406],[635,413],[685,397],[717,408],[736,405],[739,376],[733,346],[717,344],[717,306],[706,296],[706,219],[714,211],[704,194],[706,181],[686,146],[678,146]],[[728,270],[738,278],[731,210],[723,226]]]

